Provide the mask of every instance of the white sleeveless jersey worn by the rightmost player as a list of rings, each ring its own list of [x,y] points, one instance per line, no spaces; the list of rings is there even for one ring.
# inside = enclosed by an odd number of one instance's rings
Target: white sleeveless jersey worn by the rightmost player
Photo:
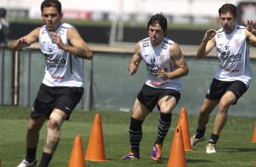
[[[250,44],[246,40],[245,27],[237,25],[231,34],[223,29],[215,35],[216,49],[221,61],[215,78],[221,81],[251,82]]]

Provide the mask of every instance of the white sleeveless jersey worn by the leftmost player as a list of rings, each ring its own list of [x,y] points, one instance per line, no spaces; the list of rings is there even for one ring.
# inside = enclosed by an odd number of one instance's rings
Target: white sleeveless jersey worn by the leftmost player
[[[60,34],[64,44],[69,44],[66,32],[73,27],[69,24],[62,24],[55,31]],[[48,86],[84,86],[83,59],[60,49],[54,44],[49,36],[45,25],[42,26],[39,35],[41,52],[44,54],[45,74],[43,83]]]

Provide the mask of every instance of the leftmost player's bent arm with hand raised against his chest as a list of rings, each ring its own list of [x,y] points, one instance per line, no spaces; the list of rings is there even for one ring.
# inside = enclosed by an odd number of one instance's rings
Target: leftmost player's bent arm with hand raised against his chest
[[[71,45],[64,44],[59,34],[51,33],[51,36],[54,39],[54,43],[58,44],[64,51],[84,59],[93,58],[93,52],[75,28],[69,28],[67,31],[67,38]]]

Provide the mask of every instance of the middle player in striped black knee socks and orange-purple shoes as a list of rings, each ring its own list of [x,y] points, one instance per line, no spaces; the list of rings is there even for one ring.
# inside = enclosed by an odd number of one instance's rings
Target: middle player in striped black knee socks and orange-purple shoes
[[[162,142],[171,126],[172,110],[181,96],[181,77],[189,74],[180,46],[165,37],[166,17],[161,14],[153,15],[147,29],[149,37],[135,44],[133,58],[128,65],[129,73],[133,75],[143,60],[147,77],[133,104],[129,129],[131,152],[121,160],[140,158],[143,121],[153,112],[155,106],[160,111],[160,119],[156,141],[153,143],[152,159],[157,162],[161,160]]]

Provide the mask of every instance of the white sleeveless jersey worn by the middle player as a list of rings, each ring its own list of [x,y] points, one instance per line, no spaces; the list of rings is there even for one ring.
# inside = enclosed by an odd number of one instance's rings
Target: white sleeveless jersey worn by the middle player
[[[159,68],[162,68],[165,72],[172,72],[177,68],[170,54],[170,47],[173,43],[172,40],[164,37],[162,44],[153,46],[148,37],[140,41],[140,49],[147,69],[146,84],[154,88],[174,89],[181,92],[181,78],[162,80],[156,75]]]

